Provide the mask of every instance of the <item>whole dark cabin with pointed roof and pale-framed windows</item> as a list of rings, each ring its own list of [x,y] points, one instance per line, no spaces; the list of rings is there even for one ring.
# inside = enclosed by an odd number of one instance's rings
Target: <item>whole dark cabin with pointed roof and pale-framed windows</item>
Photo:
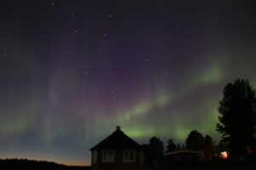
[[[140,144],[123,133],[120,127],[96,144],[91,151],[92,170],[143,170],[144,153]]]

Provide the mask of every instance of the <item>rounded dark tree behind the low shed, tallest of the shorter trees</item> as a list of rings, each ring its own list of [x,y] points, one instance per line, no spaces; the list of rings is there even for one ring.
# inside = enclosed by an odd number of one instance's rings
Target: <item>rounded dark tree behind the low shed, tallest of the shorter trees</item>
[[[191,131],[189,133],[188,138],[186,139],[186,147],[189,150],[203,150],[205,143],[205,139],[201,133],[197,132],[196,130]]]

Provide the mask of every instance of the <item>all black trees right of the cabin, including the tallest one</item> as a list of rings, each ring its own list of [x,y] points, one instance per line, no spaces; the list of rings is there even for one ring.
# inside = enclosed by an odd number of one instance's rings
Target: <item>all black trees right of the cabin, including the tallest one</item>
[[[163,142],[153,137],[149,144],[143,144],[146,161],[160,168],[165,161],[165,152],[195,150],[206,161],[219,158],[221,151],[227,151],[231,161],[251,162],[256,160],[256,91],[247,79],[237,79],[228,83],[219,101],[216,130],[221,140],[215,144],[209,135],[191,131],[184,144],[175,144],[169,139],[166,150]]]

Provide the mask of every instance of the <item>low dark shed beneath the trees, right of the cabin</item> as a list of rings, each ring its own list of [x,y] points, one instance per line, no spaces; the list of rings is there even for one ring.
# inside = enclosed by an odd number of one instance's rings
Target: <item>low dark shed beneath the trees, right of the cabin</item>
[[[196,167],[201,161],[201,153],[193,150],[177,150],[166,153],[168,167]]]

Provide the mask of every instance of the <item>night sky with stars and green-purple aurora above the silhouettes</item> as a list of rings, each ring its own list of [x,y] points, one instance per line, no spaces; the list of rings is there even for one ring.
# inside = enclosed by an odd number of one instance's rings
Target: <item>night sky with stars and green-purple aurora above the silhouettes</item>
[[[90,164],[116,126],[138,143],[218,142],[226,83],[256,87],[249,0],[0,2],[0,158]]]

